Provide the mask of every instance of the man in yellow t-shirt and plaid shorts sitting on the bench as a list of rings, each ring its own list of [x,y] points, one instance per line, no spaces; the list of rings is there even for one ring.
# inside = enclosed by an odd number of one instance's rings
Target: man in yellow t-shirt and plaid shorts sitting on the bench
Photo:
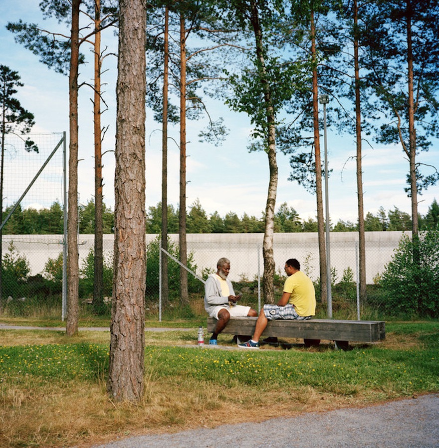
[[[256,321],[253,337],[243,344],[242,349],[258,349],[259,337],[269,320],[294,319],[307,320],[315,316],[315,290],[311,279],[300,271],[300,263],[295,258],[285,262],[288,276],[283,286],[283,294],[277,305],[265,304]]]

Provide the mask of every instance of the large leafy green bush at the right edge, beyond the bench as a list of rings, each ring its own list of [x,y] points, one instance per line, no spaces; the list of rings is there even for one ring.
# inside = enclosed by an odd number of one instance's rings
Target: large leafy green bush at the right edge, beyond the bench
[[[439,232],[423,232],[418,244],[403,236],[380,285],[386,313],[438,318]]]

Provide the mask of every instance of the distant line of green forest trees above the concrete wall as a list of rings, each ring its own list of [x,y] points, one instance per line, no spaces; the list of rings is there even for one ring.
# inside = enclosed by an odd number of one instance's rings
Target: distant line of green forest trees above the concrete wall
[[[238,216],[228,212],[220,216],[216,211],[208,214],[197,199],[190,207],[187,219],[187,233],[262,233],[264,231],[264,215],[259,218],[243,213]],[[114,216],[111,208],[103,207],[104,233],[113,233]],[[6,209],[8,213],[8,209]],[[179,210],[168,205],[169,233],[178,233]],[[419,215],[421,230],[439,230],[439,204],[435,199],[426,215]],[[160,234],[162,225],[162,205],[150,206],[146,218],[146,233]],[[331,223],[333,232],[358,231],[358,223],[339,220]],[[366,232],[412,230],[410,214],[398,207],[386,211],[380,207],[377,214],[368,212],[365,216]],[[317,220],[301,219],[293,207],[282,203],[274,216],[275,232],[317,232]],[[17,207],[3,229],[6,235],[44,235],[63,233],[63,209],[59,202],[54,202],[50,208],[35,210]],[[94,202],[89,201],[79,206],[79,233],[94,233]]]

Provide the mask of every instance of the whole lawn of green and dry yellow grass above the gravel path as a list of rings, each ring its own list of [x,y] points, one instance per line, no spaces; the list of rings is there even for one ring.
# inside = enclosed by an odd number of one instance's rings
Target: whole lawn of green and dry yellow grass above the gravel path
[[[61,331],[1,330],[0,446],[90,447],[439,391],[436,321],[387,323],[385,341],[346,352],[329,341],[305,349],[296,340],[286,340],[290,350],[203,349],[191,326],[146,332],[145,394],[137,404],[113,403],[106,394],[109,332],[67,338]],[[230,336],[220,335],[219,344],[232,347]]]

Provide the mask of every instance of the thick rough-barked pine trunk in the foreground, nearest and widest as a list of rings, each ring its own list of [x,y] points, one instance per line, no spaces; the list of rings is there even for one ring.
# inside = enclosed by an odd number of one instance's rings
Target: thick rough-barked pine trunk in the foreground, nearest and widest
[[[145,346],[146,0],[120,0],[115,241],[108,392],[143,396]]]

